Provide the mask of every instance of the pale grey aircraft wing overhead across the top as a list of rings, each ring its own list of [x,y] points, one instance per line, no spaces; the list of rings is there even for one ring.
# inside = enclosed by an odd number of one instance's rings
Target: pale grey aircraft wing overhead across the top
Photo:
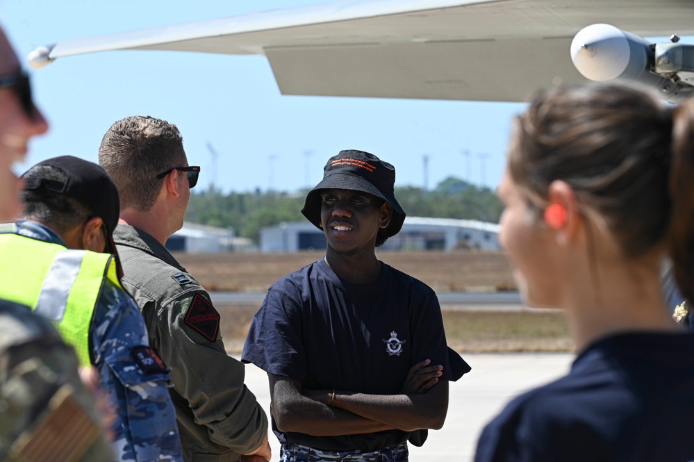
[[[345,0],[60,42],[42,58],[261,54],[283,94],[525,101],[537,88],[584,81],[569,49],[588,24],[694,35],[692,18],[691,0]]]

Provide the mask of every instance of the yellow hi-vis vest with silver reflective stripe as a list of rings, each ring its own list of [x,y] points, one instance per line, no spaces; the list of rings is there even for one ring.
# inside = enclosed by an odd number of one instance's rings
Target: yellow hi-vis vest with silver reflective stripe
[[[0,230],[0,298],[47,317],[81,365],[92,364],[89,327],[99,293],[106,279],[122,287],[113,255],[65,249],[7,231]]]

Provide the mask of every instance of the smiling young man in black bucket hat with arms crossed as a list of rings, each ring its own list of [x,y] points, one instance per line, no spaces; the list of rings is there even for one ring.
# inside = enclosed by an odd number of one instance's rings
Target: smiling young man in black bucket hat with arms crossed
[[[443,426],[448,382],[470,370],[446,345],[436,294],[378,260],[405,219],[395,169],[340,151],[301,213],[324,258],[274,283],[242,361],[270,377],[281,461],[407,461]]]

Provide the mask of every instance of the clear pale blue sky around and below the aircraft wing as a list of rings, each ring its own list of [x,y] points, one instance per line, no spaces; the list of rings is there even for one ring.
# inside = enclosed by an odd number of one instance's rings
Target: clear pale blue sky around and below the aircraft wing
[[[0,17],[24,58],[43,44],[316,3],[327,2],[3,0]],[[224,192],[313,186],[340,149],[363,149],[393,163],[396,185],[433,188],[458,176],[495,188],[511,118],[524,108],[282,96],[263,56],[108,51],[60,58],[30,72],[51,129],[33,142],[23,168],[63,154],[97,161],[101,137],[115,120],[152,115],[181,130],[189,163],[202,167],[198,188],[214,183]]]

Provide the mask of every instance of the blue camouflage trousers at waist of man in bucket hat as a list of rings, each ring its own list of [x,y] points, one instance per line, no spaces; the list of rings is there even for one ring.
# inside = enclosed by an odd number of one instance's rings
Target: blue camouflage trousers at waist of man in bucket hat
[[[378,451],[321,451],[297,444],[282,445],[280,462],[408,462],[407,443]]]

